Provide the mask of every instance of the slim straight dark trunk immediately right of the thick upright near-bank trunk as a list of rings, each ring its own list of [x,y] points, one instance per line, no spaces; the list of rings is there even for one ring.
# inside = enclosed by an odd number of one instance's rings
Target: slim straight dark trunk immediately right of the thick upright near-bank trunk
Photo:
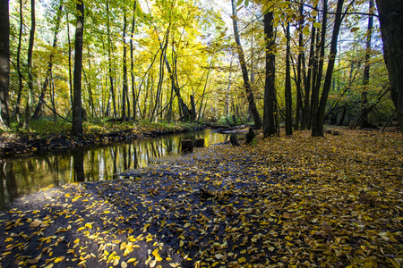
[[[287,52],[286,52],[286,135],[293,135],[293,105],[292,105],[292,95],[291,95],[291,73],[289,66],[290,58],[290,44],[289,44],[289,23],[287,23],[286,30],[287,38]]]

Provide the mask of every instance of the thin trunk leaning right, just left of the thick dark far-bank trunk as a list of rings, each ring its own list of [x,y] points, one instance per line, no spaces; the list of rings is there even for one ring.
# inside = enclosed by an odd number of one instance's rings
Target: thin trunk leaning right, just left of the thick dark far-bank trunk
[[[60,18],[61,18],[61,13],[63,10],[63,5],[62,5],[62,0],[60,1],[59,4],[59,11],[56,14],[56,29],[55,29],[55,35],[53,37],[53,46],[52,46],[52,50],[50,52],[50,56],[49,56],[49,63],[47,63],[47,76],[45,78],[45,81],[43,82],[42,85],[42,90],[40,92],[40,96],[39,96],[39,100],[38,100],[38,105],[35,109],[35,112],[32,114],[31,120],[38,120],[39,119],[39,114],[42,112],[42,105],[44,102],[44,98],[47,94],[47,86],[49,84],[49,80],[50,80],[50,74],[52,72],[52,65],[53,65],[53,57],[54,54],[56,52],[56,46],[57,46],[57,34],[59,33],[59,26],[60,26]]]

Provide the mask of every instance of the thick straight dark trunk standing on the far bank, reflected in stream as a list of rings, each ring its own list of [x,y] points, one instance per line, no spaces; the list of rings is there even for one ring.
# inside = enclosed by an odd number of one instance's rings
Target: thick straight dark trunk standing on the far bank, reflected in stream
[[[77,24],[75,28],[75,57],[73,73],[73,135],[82,134],[81,118],[81,68],[82,68],[82,36],[84,32],[84,3],[77,2]]]

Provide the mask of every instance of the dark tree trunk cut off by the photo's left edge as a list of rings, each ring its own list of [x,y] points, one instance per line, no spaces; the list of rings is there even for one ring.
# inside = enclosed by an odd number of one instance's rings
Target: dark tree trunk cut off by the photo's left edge
[[[10,125],[8,99],[10,87],[10,21],[8,0],[0,1],[0,127]]]

